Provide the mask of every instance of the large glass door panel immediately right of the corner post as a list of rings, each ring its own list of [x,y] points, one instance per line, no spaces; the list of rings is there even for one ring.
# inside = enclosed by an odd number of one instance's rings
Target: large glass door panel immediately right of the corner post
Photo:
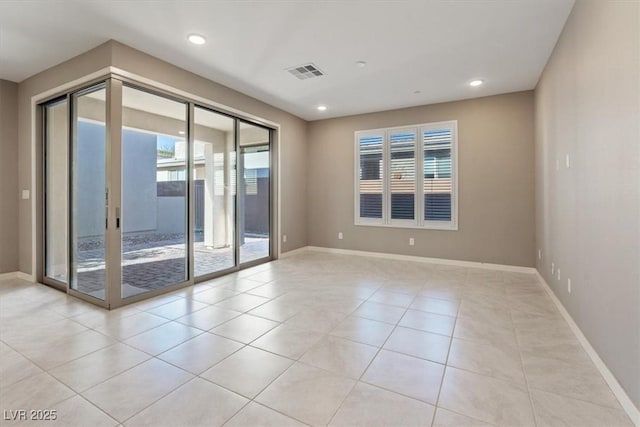
[[[187,104],[122,88],[121,297],[188,280]]]

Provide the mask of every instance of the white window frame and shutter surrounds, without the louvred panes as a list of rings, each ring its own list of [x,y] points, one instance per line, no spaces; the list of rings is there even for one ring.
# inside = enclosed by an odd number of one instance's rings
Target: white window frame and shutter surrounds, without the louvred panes
[[[424,219],[424,132],[434,130],[451,131],[451,219],[449,221]],[[391,135],[413,132],[415,141],[415,192],[414,219],[391,218]],[[382,136],[382,217],[360,217],[360,139]],[[458,230],[458,121],[448,120],[417,125],[395,126],[354,132],[354,224],[357,226],[412,228],[426,230]],[[436,162],[436,174],[437,162]]]

